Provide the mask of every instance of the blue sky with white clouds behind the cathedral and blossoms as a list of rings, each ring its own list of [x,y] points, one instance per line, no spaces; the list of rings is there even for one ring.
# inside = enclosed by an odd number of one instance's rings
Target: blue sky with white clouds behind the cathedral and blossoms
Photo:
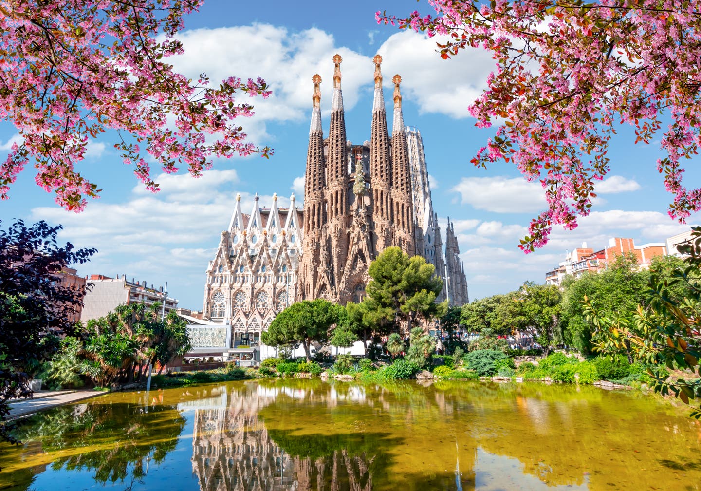
[[[265,4],[207,0],[199,13],[186,18],[180,37],[186,53],[173,59],[189,76],[201,72],[212,82],[228,76],[262,76],[273,88],[266,100],[252,100],[257,114],[242,119],[250,139],[274,147],[271,159],[252,157],[217,161],[200,179],[189,175],[158,178],[162,191],[145,191],[101,135],[91,142],[81,169],[103,189],[85,212],[67,212],[53,196],[34,184],[27,168],[0,202],[4,226],[14,218],[63,224],[60,238],[100,252],[80,266],[80,274],[126,274],[163,285],[181,307],[201,309],[207,262],[219,233],[229,224],[236,194],[245,213],[255,193],[269,206],[277,193],[280,205],[294,191],[303,194],[311,76],[322,75],[322,124],[328,130],[332,56],[343,56],[343,98],[348,138],[369,140],[372,111],[372,57],[383,55],[386,101],[389,81],[402,75],[404,121],[421,130],[431,176],[434,208],[445,230],[447,217],[458,234],[470,298],[515,290],[524,281],[543,283],[546,271],[564,259],[566,250],[581,245],[603,248],[613,236],[632,237],[637,244],[662,242],[687,227],[667,217],[672,197],[655,170],[660,154],[655,145],[634,145],[632,130],[622,128],[608,155],[611,177],[599,185],[599,199],[589,217],[574,231],[554,229],[550,243],[524,255],[517,248],[531,217],[545,201],[537,183],[525,182],[510,164],[484,170],[470,159],[494,130],[475,128],[468,105],[484,87],[494,61],[483,51],[465,51],[441,60],[435,41],[391,26],[376,25],[374,13],[397,15],[425,2],[374,0],[353,2],[289,2]],[[391,113],[390,113],[391,114]],[[391,118],[390,118],[391,119]],[[391,124],[391,121],[390,121]],[[0,153],[15,136],[11,123],[0,123]],[[694,161],[690,161],[694,163]],[[688,187],[698,186],[700,172],[687,170]],[[697,222],[692,217],[690,222]]]

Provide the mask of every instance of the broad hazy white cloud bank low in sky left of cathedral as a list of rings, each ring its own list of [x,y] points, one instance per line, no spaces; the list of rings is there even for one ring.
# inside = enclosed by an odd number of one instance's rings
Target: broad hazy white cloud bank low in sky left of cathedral
[[[97,248],[93,260],[78,266],[79,274],[127,274],[159,285],[170,278],[177,285],[171,288],[173,295],[198,299],[184,307],[199,309],[200,295],[191,290],[203,288],[207,262],[229,224],[236,204],[236,171],[208,170],[199,179],[162,174],[156,181],[163,187],[157,194],[137,185],[123,203],[95,201],[79,215],[38,207],[32,209],[32,218],[61,223],[62,241]],[[254,195],[240,194],[243,213],[250,213]],[[273,196],[259,196],[258,206],[272,203]],[[278,206],[290,206],[290,200],[280,196]]]

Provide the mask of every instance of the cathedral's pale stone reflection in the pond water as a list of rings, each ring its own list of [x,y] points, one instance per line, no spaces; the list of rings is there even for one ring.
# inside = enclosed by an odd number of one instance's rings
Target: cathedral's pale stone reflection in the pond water
[[[293,436],[266,429],[259,412],[276,397],[307,395],[304,389],[246,384],[240,390],[218,386],[207,397],[180,403],[179,410],[194,410],[192,467],[200,490],[372,490],[373,464],[382,459],[354,445],[357,436]],[[359,397],[331,389],[322,399]]]

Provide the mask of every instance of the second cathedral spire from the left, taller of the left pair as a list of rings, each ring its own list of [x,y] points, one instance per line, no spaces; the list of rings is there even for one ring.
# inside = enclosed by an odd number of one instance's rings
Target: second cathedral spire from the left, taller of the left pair
[[[327,191],[329,242],[323,244],[328,249],[330,264],[329,290],[337,296],[337,286],[341,271],[348,255],[348,150],[346,147],[346,120],[343,115],[343,93],[341,93],[341,55],[334,55],[334,95],[331,105],[331,126],[327,152]]]

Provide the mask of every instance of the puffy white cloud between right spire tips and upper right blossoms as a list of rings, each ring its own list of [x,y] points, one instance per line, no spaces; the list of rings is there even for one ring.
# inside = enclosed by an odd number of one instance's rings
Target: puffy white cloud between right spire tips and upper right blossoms
[[[441,39],[408,29],[393,34],[378,50],[383,57],[382,72],[386,80],[395,73],[402,75],[402,92],[421,112],[466,118],[468,107],[486,88],[486,77],[495,62],[481,48],[465,48],[460,55],[443,60],[436,53],[437,41]]]

